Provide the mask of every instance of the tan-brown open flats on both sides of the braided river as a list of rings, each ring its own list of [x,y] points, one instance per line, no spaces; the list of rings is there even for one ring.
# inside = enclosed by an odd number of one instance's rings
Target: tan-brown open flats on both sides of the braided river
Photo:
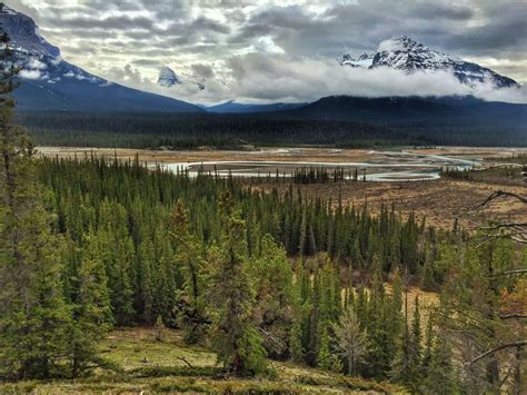
[[[183,164],[206,161],[299,161],[299,162],[376,162],[382,164],[389,160],[401,164],[428,161],[434,157],[448,157],[461,160],[478,160],[483,167],[495,166],[506,162],[513,156],[526,155],[527,148],[476,148],[476,147],[439,147],[431,149],[407,149],[408,155],[416,158],[399,158],[394,151],[370,151],[365,149],[328,149],[328,148],[262,148],[258,151],[221,151],[221,150],[196,150],[196,151],[162,151],[162,150],[136,150],[136,149],[111,149],[111,148],[61,148],[40,147],[39,151],[48,157],[77,157],[82,159],[91,155],[119,160],[133,160],[136,156],[141,162],[152,164]],[[421,158],[419,158],[421,156]],[[309,165],[306,165],[309,166]],[[265,180],[247,180],[253,188],[271,190],[277,188],[286,191],[290,179],[281,182],[266,182]],[[465,216],[466,209],[483,201],[493,191],[508,190],[521,196],[527,195],[527,182],[510,180],[507,178],[485,179],[478,181],[460,180],[441,177],[440,179],[424,181],[382,181],[382,182],[326,182],[296,185],[304,196],[331,197],[335,203],[339,196],[345,204],[354,204],[356,207],[368,205],[371,211],[378,211],[382,205],[395,205],[397,211],[408,215],[414,213],[417,218],[427,219],[427,224],[439,228],[451,228],[456,217],[460,217],[460,224],[467,228],[475,220],[500,219],[500,220],[525,220],[526,214],[518,203],[508,200],[496,201],[490,209],[484,210],[479,217]]]

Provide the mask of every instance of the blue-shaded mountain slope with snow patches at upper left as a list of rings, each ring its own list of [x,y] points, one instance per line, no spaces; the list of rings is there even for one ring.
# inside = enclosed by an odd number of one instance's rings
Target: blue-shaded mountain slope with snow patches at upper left
[[[21,69],[14,91],[20,109],[82,111],[185,111],[202,109],[185,101],[130,89],[64,61],[34,21],[0,3],[0,33],[10,37],[12,55],[4,67]]]

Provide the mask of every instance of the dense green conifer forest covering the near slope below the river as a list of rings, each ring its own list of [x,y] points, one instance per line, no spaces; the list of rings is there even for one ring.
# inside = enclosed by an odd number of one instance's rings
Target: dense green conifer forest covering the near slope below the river
[[[37,158],[13,122],[12,73],[1,88],[0,381],[120,372],[99,344],[156,326],[210,348],[228,376],[272,377],[290,361],[411,393],[521,393],[515,237],[481,241],[454,220],[435,229],[294,184]],[[438,303],[424,308],[410,287]]]

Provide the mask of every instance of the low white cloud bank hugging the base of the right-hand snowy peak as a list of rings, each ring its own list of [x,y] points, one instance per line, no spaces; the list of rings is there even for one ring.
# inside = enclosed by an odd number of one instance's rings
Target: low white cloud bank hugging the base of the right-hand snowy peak
[[[178,70],[176,70],[178,72]],[[372,70],[341,67],[336,62],[292,59],[287,56],[248,53],[218,66],[205,89],[195,83],[162,88],[156,79],[127,67],[115,77],[126,85],[201,103],[236,99],[242,102],[300,102],[325,96],[450,96],[474,95],[485,100],[527,102],[526,89],[496,89],[490,83],[469,87],[450,72],[406,73],[390,68]]]

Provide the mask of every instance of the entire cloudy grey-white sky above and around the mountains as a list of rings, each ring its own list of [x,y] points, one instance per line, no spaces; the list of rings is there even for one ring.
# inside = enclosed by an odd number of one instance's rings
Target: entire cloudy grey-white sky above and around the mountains
[[[464,92],[446,75],[341,68],[336,58],[408,34],[527,82],[527,0],[8,0],[66,60],[193,102]],[[156,86],[161,66],[186,83]],[[206,81],[200,90],[195,81]],[[480,95],[490,95],[485,87]],[[509,95],[500,92],[491,95]],[[514,93],[516,95],[516,93]],[[524,93],[525,95],[525,89]],[[494,97],[493,97],[494,98]]]

